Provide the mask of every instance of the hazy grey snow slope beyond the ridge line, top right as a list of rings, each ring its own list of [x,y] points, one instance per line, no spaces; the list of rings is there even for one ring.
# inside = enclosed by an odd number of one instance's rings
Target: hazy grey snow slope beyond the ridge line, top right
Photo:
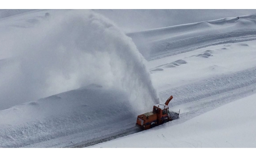
[[[126,32],[254,14],[254,9],[93,9]],[[204,15],[204,16],[201,16]],[[125,17],[125,18],[124,18]]]

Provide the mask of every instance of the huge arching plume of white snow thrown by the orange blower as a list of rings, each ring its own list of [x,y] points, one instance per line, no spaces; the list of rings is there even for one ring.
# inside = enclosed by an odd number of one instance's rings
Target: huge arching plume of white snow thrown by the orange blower
[[[14,60],[0,66],[2,109],[92,83],[124,90],[141,110],[158,103],[132,39],[93,12],[50,14],[33,27],[17,28],[1,45]]]

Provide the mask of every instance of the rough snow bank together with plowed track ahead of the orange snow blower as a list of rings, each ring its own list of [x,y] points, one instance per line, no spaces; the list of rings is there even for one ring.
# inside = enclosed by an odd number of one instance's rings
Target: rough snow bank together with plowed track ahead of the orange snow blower
[[[180,119],[168,123],[174,125],[255,93],[256,67],[168,89],[159,96],[177,98],[170,103],[171,110],[181,108]]]

